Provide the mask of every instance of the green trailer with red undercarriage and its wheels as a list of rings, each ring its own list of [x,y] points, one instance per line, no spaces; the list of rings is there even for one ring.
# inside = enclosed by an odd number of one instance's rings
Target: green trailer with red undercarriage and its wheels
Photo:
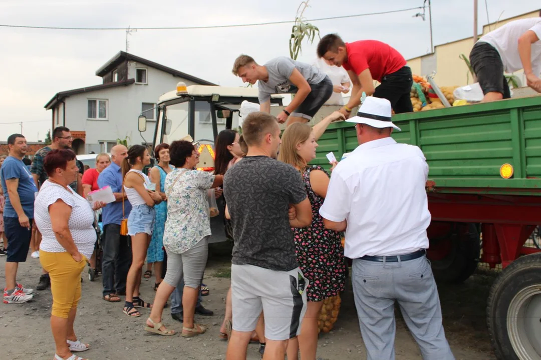
[[[434,274],[461,282],[479,261],[501,263],[487,305],[494,351],[541,359],[541,253],[524,247],[541,225],[541,96],[398,114],[393,123],[402,130],[393,138],[419,146],[430,166]],[[326,153],[340,159],[358,146],[353,124],[331,124],[318,144],[313,164],[328,168]]]

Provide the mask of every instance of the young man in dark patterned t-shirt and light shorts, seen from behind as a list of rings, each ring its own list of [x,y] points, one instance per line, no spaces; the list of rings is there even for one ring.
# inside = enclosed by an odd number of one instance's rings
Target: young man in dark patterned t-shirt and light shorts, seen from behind
[[[291,228],[309,226],[312,207],[299,172],[275,159],[281,142],[276,118],[251,113],[243,121],[242,134],[248,154],[223,181],[226,217],[234,236],[233,333],[226,360],[246,359],[261,311],[265,355],[283,359],[287,341],[300,332],[308,286],[296,260]]]

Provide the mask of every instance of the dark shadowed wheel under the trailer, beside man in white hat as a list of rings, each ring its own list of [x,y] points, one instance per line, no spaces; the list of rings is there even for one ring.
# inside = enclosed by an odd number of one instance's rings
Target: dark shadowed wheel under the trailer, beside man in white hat
[[[441,239],[430,239],[430,242],[428,259],[432,263],[432,271],[437,280],[461,283],[477,269],[481,252],[477,224],[454,223],[446,236]],[[430,256],[433,251],[445,254],[434,260]]]

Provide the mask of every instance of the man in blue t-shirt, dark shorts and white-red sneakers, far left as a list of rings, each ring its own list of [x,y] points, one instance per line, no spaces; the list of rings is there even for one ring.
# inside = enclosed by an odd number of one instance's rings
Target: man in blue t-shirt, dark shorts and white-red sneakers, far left
[[[34,199],[37,187],[32,174],[22,159],[27,153],[27,140],[21,134],[8,138],[9,157],[0,168],[0,179],[5,195],[4,232],[8,238],[8,258],[5,262],[4,303],[24,303],[32,299],[32,289],[25,289],[16,281],[19,262],[27,260]]]

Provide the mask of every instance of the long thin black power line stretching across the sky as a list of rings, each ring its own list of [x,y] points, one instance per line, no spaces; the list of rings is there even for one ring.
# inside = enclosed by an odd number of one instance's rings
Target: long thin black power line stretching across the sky
[[[306,21],[314,22],[314,21],[345,19],[345,18],[361,17],[361,16],[384,15],[384,14],[387,14],[387,13],[404,12],[404,11],[423,9],[423,8],[424,8],[424,6],[417,6],[416,8],[409,8],[409,9],[380,11],[380,12],[368,12],[368,13],[360,13],[360,14],[357,14],[357,15],[322,17],[322,18],[319,18],[319,19],[308,19]],[[294,20],[288,20],[288,21],[274,21],[274,22],[253,23],[253,24],[210,25],[210,26],[166,26],[166,27],[161,27],[161,28],[136,28],[135,26],[133,26],[133,27],[131,27],[131,29],[137,29],[137,30],[222,29],[222,28],[241,28],[241,27],[244,27],[244,26],[291,24],[291,23],[294,23],[294,22],[295,22]],[[23,29],[46,29],[46,30],[123,30],[123,31],[126,31],[126,28],[63,28],[61,26],[30,26],[30,25],[5,25],[5,24],[0,24],[0,27],[3,27],[3,28],[23,28]]]

